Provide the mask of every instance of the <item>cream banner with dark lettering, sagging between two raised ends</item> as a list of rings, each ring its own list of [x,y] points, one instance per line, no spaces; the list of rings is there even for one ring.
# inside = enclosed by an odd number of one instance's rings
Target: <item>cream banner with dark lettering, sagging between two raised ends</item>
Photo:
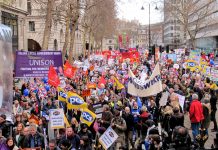
[[[151,77],[141,81],[129,69],[128,93],[133,96],[148,97],[163,91],[159,63],[156,64]]]

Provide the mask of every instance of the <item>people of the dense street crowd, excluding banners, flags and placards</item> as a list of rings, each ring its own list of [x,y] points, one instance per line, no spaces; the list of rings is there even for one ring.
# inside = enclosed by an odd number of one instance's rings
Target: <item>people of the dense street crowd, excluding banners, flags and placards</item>
[[[80,57],[81,61],[85,58]],[[6,115],[0,115],[0,149],[46,149],[46,150],[91,150],[103,149],[99,137],[111,126],[118,134],[118,139],[110,149],[197,149],[205,143],[212,132],[217,131],[216,103],[217,84],[198,72],[191,72],[182,67],[173,68],[173,62],[161,63],[163,91],[150,97],[134,97],[127,93],[128,67],[136,77],[143,71],[147,78],[152,73],[154,64],[140,57],[138,65],[128,62],[115,62],[108,66],[105,60],[90,60],[95,68],[106,66],[104,71],[78,68],[73,78],[66,78],[66,91],[81,95],[89,82],[98,85],[103,76],[106,83],[91,89],[91,96],[84,97],[90,110],[92,105],[101,103],[102,117],[89,127],[80,121],[81,110],[68,110],[65,102],[58,100],[57,90],[47,85],[46,79],[35,78],[32,83],[45,87],[43,97],[32,88],[31,81],[25,81],[22,87],[14,86],[13,122]],[[123,65],[124,64],[124,65]],[[125,88],[117,89],[116,76]],[[160,105],[164,93],[169,93],[165,105]],[[185,96],[181,106],[176,94]],[[49,110],[63,108],[70,126],[54,131],[50,135]],[[188,115],[191,127],[184,125]],[[94,124],[98,130],[94,130]],[[192,130],[192,135],[188,130]],[[202,144],[203,143],[203,144]]]

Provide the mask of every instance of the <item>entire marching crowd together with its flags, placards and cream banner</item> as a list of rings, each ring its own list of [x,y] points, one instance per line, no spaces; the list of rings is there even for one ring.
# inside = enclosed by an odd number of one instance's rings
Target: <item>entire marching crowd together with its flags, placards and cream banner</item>
[[[217,83],[189,56],[104,53],[16,85],[12,121],[0,115],[0,149],[188,150],[201,147],[201,131],[217,131]]]

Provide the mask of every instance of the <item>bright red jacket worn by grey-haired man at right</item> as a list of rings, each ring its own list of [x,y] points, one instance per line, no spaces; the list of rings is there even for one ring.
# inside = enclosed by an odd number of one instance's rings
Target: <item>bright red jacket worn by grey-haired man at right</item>
[[[198,100],[193,100],[189,109],[191,123],[199,123],[204,119],[203,108]]]

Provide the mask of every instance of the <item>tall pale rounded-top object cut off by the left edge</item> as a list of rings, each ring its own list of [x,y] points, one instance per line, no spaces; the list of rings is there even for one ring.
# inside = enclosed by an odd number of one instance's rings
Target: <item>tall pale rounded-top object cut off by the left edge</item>
[[[12,114],[13,69],[12,32],[8,26],[0,24],[0,114]]]

